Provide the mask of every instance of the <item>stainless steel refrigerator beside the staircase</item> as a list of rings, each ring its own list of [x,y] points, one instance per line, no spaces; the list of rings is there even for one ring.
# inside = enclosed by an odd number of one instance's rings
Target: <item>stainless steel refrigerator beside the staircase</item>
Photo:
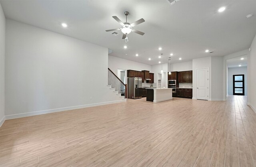
[[[142,78],[128,77],[128,98],[142,98]]]

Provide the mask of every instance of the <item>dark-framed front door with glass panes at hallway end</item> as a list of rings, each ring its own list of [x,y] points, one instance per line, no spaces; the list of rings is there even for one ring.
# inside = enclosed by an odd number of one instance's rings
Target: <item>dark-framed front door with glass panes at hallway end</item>
[[[233,95],[244,96],[244,75],[233,75]]]

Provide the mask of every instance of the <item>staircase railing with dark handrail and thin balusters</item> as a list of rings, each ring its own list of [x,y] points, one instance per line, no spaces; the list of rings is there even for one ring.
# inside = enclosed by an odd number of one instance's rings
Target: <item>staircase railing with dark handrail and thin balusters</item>
[[[124,84],[109,68],[108,86],[116,95],[119,95],[121,98],[127,98],[127,84]]]

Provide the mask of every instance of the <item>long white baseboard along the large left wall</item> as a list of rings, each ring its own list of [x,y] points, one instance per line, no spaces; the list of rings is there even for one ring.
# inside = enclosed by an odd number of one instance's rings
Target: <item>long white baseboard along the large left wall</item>
[[[87,108],[87,107],[94,107],[94,106],[101,106],[106,104],[114,104],[118,102],[126,102],[127,99],[124,98],[122,100],[116,100],[116,101],[110,101],[110,102],[100,102],[100,103],[94,103],[94,104],[85,104],[80,106],[71,106],[71,107],[64,107],[64,108],[55,108],[50,110],[42,110],[42,111],[34,111],[34,112],[26,112],[21,114],[13,114],[13,115],[7,115],[5,116],[6,120],[14,119],[14,118],[22,118],[26,116],[35,116],[35,115],[41,115],[41,114],[48,114],[53,112],[61,112],[61,111],[67,111],[67,110],[74,110],[79,108]],[[2,121],[1,121],[2,122]]]

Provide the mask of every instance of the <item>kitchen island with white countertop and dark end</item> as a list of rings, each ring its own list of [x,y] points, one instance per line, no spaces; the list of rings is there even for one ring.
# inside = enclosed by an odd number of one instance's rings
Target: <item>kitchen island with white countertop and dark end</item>
[[[162,102],[172,99],[172,88],[146,88],[147,101]]]

